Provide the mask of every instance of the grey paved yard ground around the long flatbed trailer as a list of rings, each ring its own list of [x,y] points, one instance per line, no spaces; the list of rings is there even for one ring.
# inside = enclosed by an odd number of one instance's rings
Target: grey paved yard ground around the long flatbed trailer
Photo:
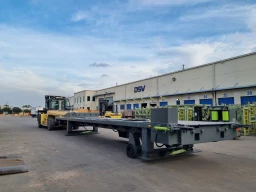
[[[256,137],[195,145],[202,152],[145,162],[125,155],[112,130],[64,136],[31,117],[0,117],[0,151],[29,172],[0,177],[0,191],[255,191]]]

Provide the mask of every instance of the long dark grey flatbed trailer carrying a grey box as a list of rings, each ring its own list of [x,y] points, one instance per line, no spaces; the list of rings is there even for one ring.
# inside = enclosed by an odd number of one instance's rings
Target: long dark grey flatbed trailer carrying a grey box
[[[178,121],[177,114],[177,108],[155,108],[151,120],[99,118],[88,113],[68,113],[56,120],[67,124],[66,135],[98,133],[98,128],[115,130],[119,137],[129,139],[127,156],[144,160],[193,153],[198,143],[232,140],[236,128],[243,126],[238,122]],[[92,129],[74,130],[77,126]]]

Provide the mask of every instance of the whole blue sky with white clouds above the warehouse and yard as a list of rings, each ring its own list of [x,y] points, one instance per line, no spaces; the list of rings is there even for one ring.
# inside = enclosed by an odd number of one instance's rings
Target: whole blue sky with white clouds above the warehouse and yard
[[[256,51],[252,0],[0,0],[0,105]]]

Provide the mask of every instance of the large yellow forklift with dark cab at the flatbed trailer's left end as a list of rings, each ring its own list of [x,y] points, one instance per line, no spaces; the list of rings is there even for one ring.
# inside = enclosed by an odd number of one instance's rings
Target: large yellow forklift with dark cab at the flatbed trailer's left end
[[[64,96],[45,95],[45,108],[37,111],[38,127],[47,127],[53,130],[60,126],[55,118],[63,116],[70,111],[69,99]]]

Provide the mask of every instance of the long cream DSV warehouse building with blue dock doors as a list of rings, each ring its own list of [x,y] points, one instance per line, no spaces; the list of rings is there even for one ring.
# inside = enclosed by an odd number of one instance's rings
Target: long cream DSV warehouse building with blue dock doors
[[[87,95],[93,99],[88,100]],[[74,107],[98,109],[109,100],[113,111],[180,104],[256,102],[256,52],[97,91],[74,94]]]

